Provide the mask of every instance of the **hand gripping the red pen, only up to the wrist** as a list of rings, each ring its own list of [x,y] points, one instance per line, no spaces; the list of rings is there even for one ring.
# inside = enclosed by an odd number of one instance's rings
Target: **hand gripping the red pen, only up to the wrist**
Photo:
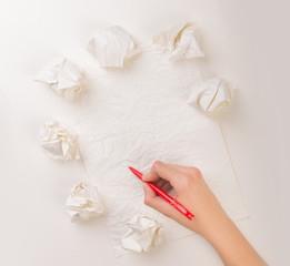
[[[166,192],[173,188],[176,193],[173,198],[194,214],[196,217],[189,221],[172,205],[158,196],[147,183],[143,183],[144,203],[148,206],[156,208],[204,237],[213,226],[213,221],[217,219],[217,216],[227,218],[218,200],[206,184],[200,171],[196,167],[156,161],[150,172],[143,176],[143,181],[153,182]]]

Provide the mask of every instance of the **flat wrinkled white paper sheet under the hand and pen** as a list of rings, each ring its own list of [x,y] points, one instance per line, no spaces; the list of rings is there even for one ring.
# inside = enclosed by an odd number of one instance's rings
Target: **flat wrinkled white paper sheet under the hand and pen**
[[[88,175],[103,195],[118,256],[128,253],[121,239],[137,213],[161,223],[164,239],[192,234],[143,204],[142,184],[129,165],[144,174],[156,160],[197,166],[227,213],[233,219],[247,216],[218,123],[188,104],[202,79],[196,62],[171,62],[151,43],[141,49],[122,71],[104,71],[83,54],[92,89],[72,117]]]

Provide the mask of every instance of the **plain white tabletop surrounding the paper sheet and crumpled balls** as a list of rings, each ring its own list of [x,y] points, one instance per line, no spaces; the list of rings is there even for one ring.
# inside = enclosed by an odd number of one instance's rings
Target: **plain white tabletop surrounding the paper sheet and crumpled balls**
[[[116,258],[101,221],[70,224],[63,209],[69,190],[86,175],[82,164],[51,161],[37,143],[42,123],[71,109],[32,81],[51,59],[82,48],[103,27],[120,24],[142,41],[193,20],[211,69],[238,86],[221,121],[250,215],[238,226],[270,265],[288,265],[288,10],[282,0],[2,0],[0,264],[222,265],[197,235]]]

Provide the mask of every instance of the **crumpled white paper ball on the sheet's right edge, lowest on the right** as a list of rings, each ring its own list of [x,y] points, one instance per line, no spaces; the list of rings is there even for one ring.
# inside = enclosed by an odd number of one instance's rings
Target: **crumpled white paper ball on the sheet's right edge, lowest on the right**
[[[206,80],[193,88],[188,103],[200,108],[207,114],[214,115],[230,105],[233,90],[234,88],[223,79]]]

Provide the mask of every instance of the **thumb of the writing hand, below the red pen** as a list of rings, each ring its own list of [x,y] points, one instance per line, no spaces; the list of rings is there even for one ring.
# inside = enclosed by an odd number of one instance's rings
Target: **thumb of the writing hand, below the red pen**
[[[158,212],[172,217],[177,209],[171,206],[167,201],[162,197],[158,196],[156,192],[143,182],[143,191],[144,191],[144,204],[157,209]]]

